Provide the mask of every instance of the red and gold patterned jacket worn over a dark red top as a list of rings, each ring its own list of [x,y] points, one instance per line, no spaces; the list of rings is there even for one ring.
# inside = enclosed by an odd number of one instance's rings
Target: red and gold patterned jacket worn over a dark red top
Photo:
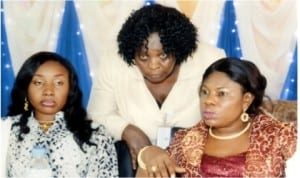
[[[200,170],[208,128],[201,121],[195,127],[178,131],[168,152],[186,169],[184,177],[203,177]],[[281,177],[285,161],[296,151],[297,130],[294,124],[280,122],[265,114],[253,119],[250,146],[245,154],[243,177]],[[205,161],[204,159],[203,161]],[[200,169],[199,169],[200,167]],[[217,173],[217,172],[216,172]],[[223,177],[223,175],[214,175]],[[234,175],[228,175],[233,177]]]

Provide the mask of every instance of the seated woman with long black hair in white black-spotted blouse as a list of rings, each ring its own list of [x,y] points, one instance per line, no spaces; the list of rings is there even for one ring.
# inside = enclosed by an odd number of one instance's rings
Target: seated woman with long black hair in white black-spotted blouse
[[[6,173],[24,177],[35,146],[46,148],[52,177],[117,177],[113,138],[92,127],[72,65],[52,52],[39,52],[21,67],[8,117]],[[6,149],[6,148],[5,148]]]

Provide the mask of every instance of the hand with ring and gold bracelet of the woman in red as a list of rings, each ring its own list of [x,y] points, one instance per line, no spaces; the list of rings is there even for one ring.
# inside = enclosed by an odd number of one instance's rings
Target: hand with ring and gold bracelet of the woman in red
[[[140,153],[146,169],[138,168],[136,177],[175,177],[185,169],[176,165],[168,153],[157,146],[149,146]]]

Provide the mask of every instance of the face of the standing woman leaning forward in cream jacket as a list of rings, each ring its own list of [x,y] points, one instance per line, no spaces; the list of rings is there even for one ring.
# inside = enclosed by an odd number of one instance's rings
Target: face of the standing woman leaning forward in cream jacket
[[[163,82],[174,71],[176,60],[163,51],[158,33],[152,33],[145,44],[135,54],[135,64],[149,82]]]

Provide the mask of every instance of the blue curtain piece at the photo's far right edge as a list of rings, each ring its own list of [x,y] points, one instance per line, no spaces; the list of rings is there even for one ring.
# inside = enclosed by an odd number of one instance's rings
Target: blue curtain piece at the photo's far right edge
[[[280,99],[297,100],[297,54],[298,51],[296,45],[293,59],[281,91]]]

